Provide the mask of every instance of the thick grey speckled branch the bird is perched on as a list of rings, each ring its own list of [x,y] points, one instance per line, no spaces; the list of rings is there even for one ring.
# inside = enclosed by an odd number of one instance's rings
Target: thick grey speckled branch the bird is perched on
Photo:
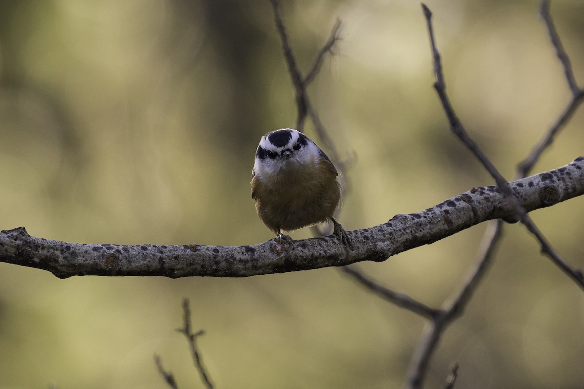
[[[584,194],[584,157],[559,169],[509,183],[527,212]],[[259,274],[384,261],[491,219],[513,221],[514,211],[495,186],[472,188],[418,213],[396,215],[382,225],[347,231],[348,250],[333,236],[276,240],[254,246],[81,244],[30,236],[23,227],[0,232],[0,262],[74,275],[245,277]]]

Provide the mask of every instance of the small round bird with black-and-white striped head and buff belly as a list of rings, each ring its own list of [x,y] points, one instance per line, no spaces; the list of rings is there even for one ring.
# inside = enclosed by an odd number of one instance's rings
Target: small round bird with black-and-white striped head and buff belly
[[[252,198],[262,222],[276,237],[293,243],[282,230],[324,223],[345,246],[349,237],[333,218],[340,200],[338,173],[326,154],[302,132],[284,128],[260,139],[252,169]]]

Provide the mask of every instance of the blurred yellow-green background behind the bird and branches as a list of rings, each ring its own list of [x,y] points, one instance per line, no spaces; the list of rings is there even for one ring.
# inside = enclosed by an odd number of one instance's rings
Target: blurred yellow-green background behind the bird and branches
[[[569,100],[532,0],[428,0],[457,113],[506,178]],[[492,179],[450,134],[432,88],[418,1],[285,1],[308,69],[337,18],[336,56],[310,94],[352,160],[347,230],[422,211]],[[552,15],[584,85],[584,3]],[[306,72],[306,70],[305,70]],[[260,136],[296,107],[266,1],[0,1],[0,229],[79,243],[256,244],[272,234],[249,191]],[[584,155],[584,109],[533,174]],[[305,132],[317,141],[313,128]],[[325,150],[327,151],[327,150]],[[584,199],[533,212],[584,267]],[[438,307],[474,261],[485,225],[359,268]],[[294,233],[310,237],[310,229]],[[218,388],[394,388],[425,321],[338,269],[245,279],[57,279],[0,264],[0,388],[202,387],[182,325]],[[576,388],[584,380],[584,295],[506,226],[491,271],[433,356],[427,387],[454,361],[457,386]]]

